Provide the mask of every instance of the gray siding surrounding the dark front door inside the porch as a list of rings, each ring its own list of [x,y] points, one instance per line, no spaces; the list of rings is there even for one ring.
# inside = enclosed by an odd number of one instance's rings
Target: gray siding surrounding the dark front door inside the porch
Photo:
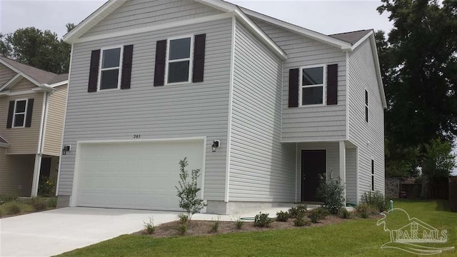
[[[338,142],[310,142],[297,143],[296,162],[296,201],[301,201],[301,151],[326,150],[327,176],[338,178],[340,176],[340,153]]]

